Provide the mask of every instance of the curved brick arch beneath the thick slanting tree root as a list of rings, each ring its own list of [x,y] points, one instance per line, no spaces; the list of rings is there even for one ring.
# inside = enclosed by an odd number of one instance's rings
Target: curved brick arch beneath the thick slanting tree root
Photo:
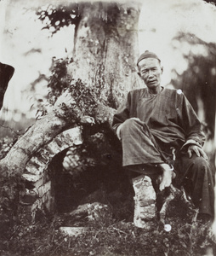
[[[26,170],[22,174],[26,189],[20,193],[20,204],[29,216],[28,221],[34,221],[37,209],[42,211],[44,208],[48,211],[54,209],[52,184],[48,177],[48,166],[51,160],[65,149],[80,144],[82,144],[82,128],[79,126],[63,131],[54,137],[28,161]]]

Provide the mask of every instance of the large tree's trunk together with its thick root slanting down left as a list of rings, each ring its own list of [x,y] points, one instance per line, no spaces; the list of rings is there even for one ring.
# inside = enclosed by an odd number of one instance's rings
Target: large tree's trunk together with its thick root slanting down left
[[[111,123],[113,108],[121,102],[125,90],[131,88],[135,77],[139,5],[131,8],[116,3],[82,4],[82,19],[76,28],[74,48],[76,65],[73,64],[69,72],[98,91],[98,102],[103,104],[98,105],[94,119],[98,123]],[[62,96],[62,102],[70,108],[73,99]],[[83,116],[82,119],[83,123],[88,122]],[[54,108],[53,113],[38,120],[20,137],[1,160],[0,168],[8,173],[24,172],[31,156],[69,125],[76,125],[71,116],[65,119],[64,111],[60,107]]]

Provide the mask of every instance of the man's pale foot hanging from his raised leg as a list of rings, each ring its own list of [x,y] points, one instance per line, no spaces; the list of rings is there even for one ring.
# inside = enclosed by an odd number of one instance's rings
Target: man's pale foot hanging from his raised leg
[[[175,177],[175,173],[173,172],[173,168],[171,168],[168,164],[160,164],[162,168],[162,177],[160,180],[159,189],[162,191],[165,188],[168,188],[171,183],[172,179]]]

